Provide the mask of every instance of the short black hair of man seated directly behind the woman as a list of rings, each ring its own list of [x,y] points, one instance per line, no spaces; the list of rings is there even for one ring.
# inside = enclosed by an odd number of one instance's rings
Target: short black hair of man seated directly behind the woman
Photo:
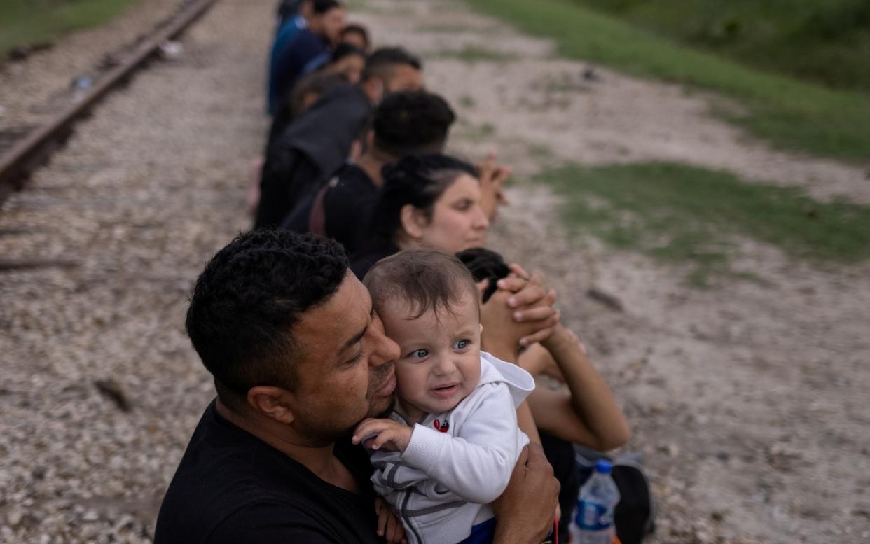
[[[375,109],[375,146],[396,157],[438,153],[455,120],[441,96],[425,91],[391,93]]]

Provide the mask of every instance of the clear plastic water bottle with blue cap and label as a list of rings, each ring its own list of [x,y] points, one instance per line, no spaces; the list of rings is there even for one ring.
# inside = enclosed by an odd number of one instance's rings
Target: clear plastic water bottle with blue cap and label
[[[619,502],[619,490],[611,472],[610,461],[596,462],[592,477],[580,488],[568,529],[571,544],[613,544],[613,508]]]

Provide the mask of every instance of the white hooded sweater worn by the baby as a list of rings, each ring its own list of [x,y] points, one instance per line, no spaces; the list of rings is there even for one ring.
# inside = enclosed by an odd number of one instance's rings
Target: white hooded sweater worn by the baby
[[[371,452],[375,491],[398,512],[410,544],[455,544],[492,518],[489,504],[529,443],[516,408],[534,388],[525,370],[481,352],[478,386],[456,408],[416,423],[404,453]]]

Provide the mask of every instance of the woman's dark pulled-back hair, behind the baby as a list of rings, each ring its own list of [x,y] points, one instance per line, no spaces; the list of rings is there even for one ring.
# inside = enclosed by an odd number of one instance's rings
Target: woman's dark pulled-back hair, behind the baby
[[[438,197],[456,178],[463,174],[478,177],[478,170],[461,159],[434,153],[404,156],[387,164],[382,174],[384,186],[371,216],[371,242],[395,245],[405,205],[411,204],[431,219]]]

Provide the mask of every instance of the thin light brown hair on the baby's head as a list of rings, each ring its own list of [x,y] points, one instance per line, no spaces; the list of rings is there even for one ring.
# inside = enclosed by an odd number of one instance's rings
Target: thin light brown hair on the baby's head
[[[413,319],[428,311],[452,312],[468,295],[478,301],[478,288],[465,265],[453,255],[431,249],[399,251],[378,261],[363,284],[376,311],[398,300],[408,305]]]

